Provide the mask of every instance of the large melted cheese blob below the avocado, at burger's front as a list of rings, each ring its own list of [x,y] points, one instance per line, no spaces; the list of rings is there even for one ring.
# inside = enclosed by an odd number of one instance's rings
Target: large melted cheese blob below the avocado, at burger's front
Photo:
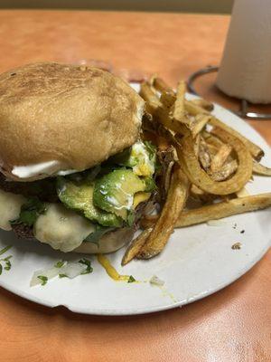
[[[34,235],[53,249],[71,252],[94,232],[94,226],[84,217],[60,204],[49,204],[45,214],[34,225]]]

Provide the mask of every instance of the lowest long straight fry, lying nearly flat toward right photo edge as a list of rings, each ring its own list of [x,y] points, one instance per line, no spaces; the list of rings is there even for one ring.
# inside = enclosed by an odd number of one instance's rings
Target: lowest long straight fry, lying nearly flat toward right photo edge
[[[222,201],[213,205],[201,206],[197,209],[182,211],[175,227],[185,227],[206,223],[209,220],[219,220],[235,214],[244,214],[251,211],[265,209],[271,206],[271,193],[238,197],[229,201]],[[149,216],[144,221],[144,227],[152,227],[156,215]]]

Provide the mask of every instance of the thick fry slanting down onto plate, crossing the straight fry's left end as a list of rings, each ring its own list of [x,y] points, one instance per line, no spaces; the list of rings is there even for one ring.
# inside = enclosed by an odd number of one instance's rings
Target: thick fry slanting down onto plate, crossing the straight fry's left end
[[[136,258],[150,259],[164,250],[178,215],[186,203],[189,187],[190,183],[182,170],[175,168],[162,213]]]

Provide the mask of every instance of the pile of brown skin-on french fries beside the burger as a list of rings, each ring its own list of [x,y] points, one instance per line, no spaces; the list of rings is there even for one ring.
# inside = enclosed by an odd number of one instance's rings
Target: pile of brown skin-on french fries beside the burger
[[[212,115],[209,101],[187,100],[185,93],[184,81],[176,91],[156,76],[141,85],[143,138],[160,151],[171,149],[173,160],[161,177],[160,212],[143,216],[144,231],[128,246],[122,265],[162,252],[174,228],[271,206],[271,192],[244,191],[253,174],[271,176],[271,168],[259,164],[264,151]],[[200,206],[190,209],[191,200]]]

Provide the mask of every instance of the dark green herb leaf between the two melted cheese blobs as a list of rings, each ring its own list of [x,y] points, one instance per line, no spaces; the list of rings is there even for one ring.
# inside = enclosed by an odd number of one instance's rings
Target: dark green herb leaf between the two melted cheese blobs
[[[39,200],[38,197],[30,197],[25,204],[21,207],[20,216],[11,220],[10,224],[24,224],[27,226],[33,226],[40,214],[44,214],[46,211],[45,204]]]

